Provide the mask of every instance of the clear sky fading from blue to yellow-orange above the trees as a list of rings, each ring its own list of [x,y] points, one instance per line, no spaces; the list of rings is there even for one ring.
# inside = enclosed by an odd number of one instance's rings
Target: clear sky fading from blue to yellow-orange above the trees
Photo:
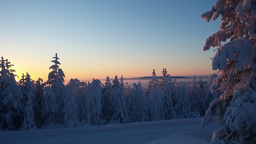
[[[55,53],[70,78],[213,74],[205,40],[216,0],[0,0],[0,56],[47,80]]]

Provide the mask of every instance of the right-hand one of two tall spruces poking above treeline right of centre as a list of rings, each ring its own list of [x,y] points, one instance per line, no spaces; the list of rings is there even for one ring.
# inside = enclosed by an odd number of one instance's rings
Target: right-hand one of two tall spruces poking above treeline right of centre
[[[177,114],[173,106],[174,103],[172,102],[175,87],[172,79],[169,77],[170,74],[167,74],[166,69],[163,69],[162,74],[162,81],[159,84],[160,95],[163,99],[163,108],[161,113],[163,114],[164,120],[170,120],[177,118]]]

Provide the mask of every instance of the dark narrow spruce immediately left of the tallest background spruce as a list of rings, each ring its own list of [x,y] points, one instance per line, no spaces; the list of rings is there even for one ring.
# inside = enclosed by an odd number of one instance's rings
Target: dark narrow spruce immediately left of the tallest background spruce
[[[42,108],[44,106],[44,86],[45,83],[43,83],[42,78],[38,78],[35,84],[35,121],[36,121],[36,127],[40,128],[42,124],[44,124],[44,119],[42,116]]]

